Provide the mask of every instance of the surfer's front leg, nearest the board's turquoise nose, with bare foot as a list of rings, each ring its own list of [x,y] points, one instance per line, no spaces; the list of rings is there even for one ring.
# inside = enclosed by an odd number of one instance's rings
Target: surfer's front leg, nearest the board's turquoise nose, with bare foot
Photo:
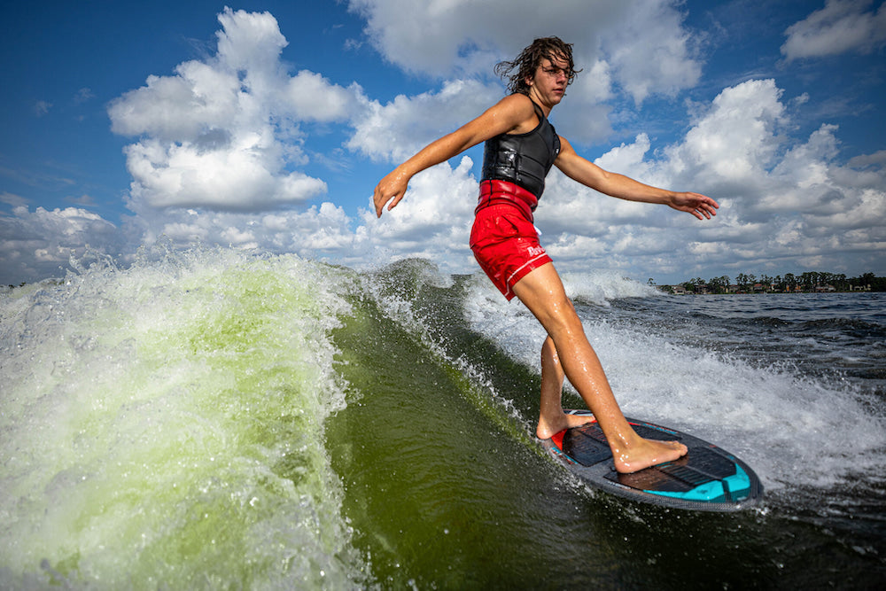
[[[513,289],[548,331],[565,376],[606,435],[616,470],[634,472],[686,454],[686,446],[681,443],[642,439],[627,423],[553,264],[532,270]]]

